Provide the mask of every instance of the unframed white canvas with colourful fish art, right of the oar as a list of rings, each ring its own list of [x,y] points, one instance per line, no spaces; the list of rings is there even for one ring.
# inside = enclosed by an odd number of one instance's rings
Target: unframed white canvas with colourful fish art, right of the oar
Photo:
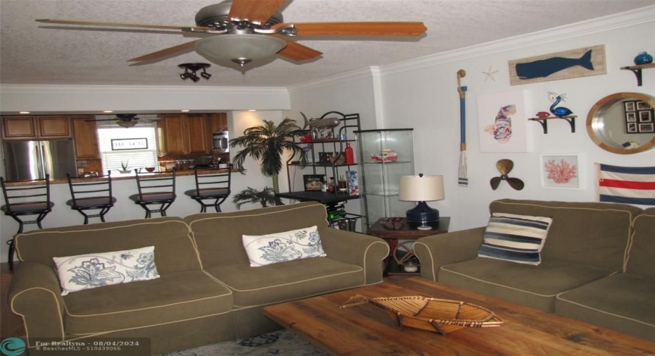
[[[528,152],[525,92],[478,95],[480,152]]]

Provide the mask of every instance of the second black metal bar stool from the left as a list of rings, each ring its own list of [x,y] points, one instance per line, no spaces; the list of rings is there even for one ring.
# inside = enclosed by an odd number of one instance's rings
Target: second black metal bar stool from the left
[[[111,171],[106,176],[93,178],[72,178],[68,177],[68,188],[70,197],[66,204],[70,209],[77,210],[84,216],[84,224],[89,223],[89,218],[100,218],[105,222],[105,214],[113,207],[116,197],[111,195]],[[99,210],[99,211],[97,211]],[[87,214],[86,211],[97,211],[95,214]]]

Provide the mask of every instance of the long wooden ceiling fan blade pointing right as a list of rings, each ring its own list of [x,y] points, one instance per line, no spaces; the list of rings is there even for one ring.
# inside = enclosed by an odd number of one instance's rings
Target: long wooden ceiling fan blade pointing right
[[[294,25],[298,36],[420,36],[428,30],[423,23],[279,23],[273,29]]]

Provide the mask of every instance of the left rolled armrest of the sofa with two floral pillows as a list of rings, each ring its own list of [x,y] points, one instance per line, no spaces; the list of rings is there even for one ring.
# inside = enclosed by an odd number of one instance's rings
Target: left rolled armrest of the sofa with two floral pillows
[[[16,264],[8,291],[11,310],[23,317],[28,345],[35,338],[64,339],[64,305],[55,271],[39,262]]]

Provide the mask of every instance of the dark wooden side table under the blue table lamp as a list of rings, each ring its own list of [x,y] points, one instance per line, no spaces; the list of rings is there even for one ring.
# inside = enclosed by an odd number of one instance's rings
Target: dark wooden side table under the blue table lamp
[[[385,275],[420,274],[420,266],[416,272],[404,271],[401,263],[413,257],[414,252],[406,243],[399,243],[398,240],[418,240],[423,236],[447,233],[449,225],[449,216],[441,216],[439,221],[432,223],[432,230],[418,230],[416,226],[410,226],[405,218],[381,218],[370,226],[366,234],[387,240],[389,247],[391,247],[389,256],[385,259]],[[411,244],[413,245],[413,242]],[[399,247],[404,247],[407,250],[407,253],[401,258],[397,256]]]

